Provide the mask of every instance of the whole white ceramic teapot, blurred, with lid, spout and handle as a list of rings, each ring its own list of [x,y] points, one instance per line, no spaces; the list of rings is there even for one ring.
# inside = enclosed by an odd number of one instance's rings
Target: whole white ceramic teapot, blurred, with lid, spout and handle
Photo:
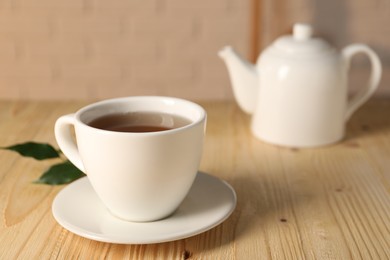
[[[256,65],[232,47],[219,51],[226,62],[239,106],[253,114],[251,130],[266,142],[313,147],[343,138],[345,123],[378,87],[382,67],[378,56],[363,44],[341,52],[312,37],[307,24],[295,24],[293,35],[278,38]],[[348,100],[348,70],[356,53],[371,62],[368,84]]]

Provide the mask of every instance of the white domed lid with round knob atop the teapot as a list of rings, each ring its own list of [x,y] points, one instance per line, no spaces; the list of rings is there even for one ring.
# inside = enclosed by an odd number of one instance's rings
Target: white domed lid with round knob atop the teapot
[[[313,37],[311,25],[303,23],[294,24],[293,34],[278,38],[273,46],[278,52],[291,54],[315,54],[332,49],[326,41]]]

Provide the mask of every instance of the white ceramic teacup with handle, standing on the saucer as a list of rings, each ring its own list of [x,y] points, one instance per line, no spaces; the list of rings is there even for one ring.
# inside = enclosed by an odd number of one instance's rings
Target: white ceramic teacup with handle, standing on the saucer
[[[188,124],[154,132],[118,132],[92,127],[111,114],[156,112]],[[154,122],[171,127],[172,119]],[[168,124],[168,125],[166,125]],[[76,143],[70,126],[74,126]],[[172,214],[187,195],[201,160],[206,112],[172,97],[110,99],[60,117],[55,136],[65,156],[85,172],[97,195],[114,215],[128,221],[154,221]],[[75,212],[77,214],[77,212]]]

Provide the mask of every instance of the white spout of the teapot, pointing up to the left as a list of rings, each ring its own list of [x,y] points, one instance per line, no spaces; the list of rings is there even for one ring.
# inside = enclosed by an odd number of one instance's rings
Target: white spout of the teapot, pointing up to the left
[[[238,55],[231,46],[226,46],[218,52],[225,61],[233,94],[240,108],[252,114],[258,98],[258,72],[256,67]]]

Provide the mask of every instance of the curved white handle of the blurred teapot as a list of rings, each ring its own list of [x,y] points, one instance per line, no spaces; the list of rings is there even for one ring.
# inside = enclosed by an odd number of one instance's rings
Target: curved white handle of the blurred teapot
[[[365,44],[352,44],[342,50],[342,56],[347,68],[349,70],[351,59],[357,53],[364,53],[368,56],[371,62],[371,74],[366,87],[361,88],[349,101],[347,111],[345,113],[345,121],[363,105],[378,88],[379,81],[382,75],[382,65],[378,55]]]

